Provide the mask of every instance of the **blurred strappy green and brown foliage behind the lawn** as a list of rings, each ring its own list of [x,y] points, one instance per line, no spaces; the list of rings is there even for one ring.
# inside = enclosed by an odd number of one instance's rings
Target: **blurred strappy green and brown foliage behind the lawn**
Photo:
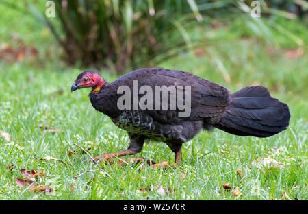
[[[153,67],[177,51],[194,49],[216,41],[205,38],[209,28],[230,25],[248,26],[251,34],[266,38],[269,43],[303,45],[288,27],[277,18],[305,16],[305,1],[258,1],[261,16],[251,17],[253,1],[240,0],[55,0],[55,19],[45,16],[45,1],[18,1],[3,5],[24,14],[32,14],[44,23],[64,51],[68,64],[81,62],[84,67],[110,67],[118,74],[125,69]],[[299,8],[295,10],[294,8]],[[290,26],[292,27],[292,25]],[[201,32],[195,33],[198,28]],[[304,29],[305,30],[305,29]],[[247,30],[243,30],[247,34]],[[285,34],[287,40],[276,41],[274,34]],[[230,35],[232,36],[232,35]],[[249,36],[249,35],[242,35]]]

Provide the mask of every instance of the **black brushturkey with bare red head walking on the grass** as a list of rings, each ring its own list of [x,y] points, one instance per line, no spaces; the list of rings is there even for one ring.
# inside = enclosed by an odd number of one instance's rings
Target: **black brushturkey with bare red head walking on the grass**
[[[271,97],[263,86],[230,93],[192,73],[162,67],[131,71],[111,83],[97,72],[84,71],[71,92],[80,88],[92,88],[89,97],[94,109],[129,136],[127,150],[96,156],[95,161],[137,154],[144,141],[151,139],[166,143],[180,166],[183,143],[201,130],[218,128],[238,136],[264,138],[286,130],[290,121],[287,104]]]

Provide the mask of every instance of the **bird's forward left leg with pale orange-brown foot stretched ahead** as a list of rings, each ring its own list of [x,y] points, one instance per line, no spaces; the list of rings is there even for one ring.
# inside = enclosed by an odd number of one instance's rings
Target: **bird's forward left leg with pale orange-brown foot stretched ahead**
[[[109,154],[103,154],[101,156],[97,156],[94,158],[95,161],[101,160],[107,160],[111,161],[115,157],[125,156],[125,155],[131,155],[131,154],[137,154],[142,150],[143,143],[144,143],[144,137],[143,136],[134,136],[132,134],[129,134],[129,138],[131,139],[131,144],[129,145],[129,148],[127,150],[122,150],[119,152],[113,152]]]

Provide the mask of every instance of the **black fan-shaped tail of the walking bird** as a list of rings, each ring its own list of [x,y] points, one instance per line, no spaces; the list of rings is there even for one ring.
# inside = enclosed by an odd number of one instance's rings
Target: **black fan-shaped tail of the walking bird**
[[[267,137],[285,130],[289,120],[286,104],[270,97],[266,88],[253,86],[231,95],[231,103],[214,127],[240,136]]]

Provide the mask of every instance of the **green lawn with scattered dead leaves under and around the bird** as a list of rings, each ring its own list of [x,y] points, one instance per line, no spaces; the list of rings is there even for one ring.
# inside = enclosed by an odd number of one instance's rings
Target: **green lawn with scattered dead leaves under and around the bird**
[[[179,51],[175,58],[155,67],[189,71],[231,92],[244,86],[266,86],[273,97],[290,108],[287,130],[266,139],[234,136],[216,129],[202,131],[183,145],[179,168],[153,169],[143,162],[124,166],[104,164],[103,170],[112,178],[100,171],[75,178],[97,166],[83,161],[88,156],[74,143],[97,156],[126,149],[127,133],[92,108],[87,89],[70,93],[71,84],[82,70],[78,66],[66,67],[60,59],[53,58],[57,52],[44,62],[30,62],[27,58],[14,63],[1,60],[0,130],[8,133],[10,139],[0,136],[0,198],[308,200],[307,44],[298,47],[282,34],[272,34],[276,42],[270,43],[268,38],[252,35],[244,27],[237,28],[240,21],[233,25],[205,34],[211,40],[217,38],[219,43],[195,52]],[[281,25],[292,27],[292,32],[307,42],[307,29],[300,23],[283,19]],[[38,33],[21,37],[40,46],[42,37],[48,34],[40,27]],[[30,31],[31,26],[23,29],[23,34]],[[3,32],[0,35],[10,43]],[[34,42],[36,38],[41,38],[39,45]],[[53,40],[48,39],[49,43]],[[42,53],[48,46],[38,49]],[[56,50],[56,45],[50,49]],[[100,72],[109,82],[117,78],[110,71]],[[133,157],[174,161],[171,150],[164,143],[155,142],[146,143],[142,152]],[[264,166],[261,158],[276,160],[277,165]],[[9,166],[12,167],[8,169]],[[18,186],[14,178],[24,177],[21,169],[44,171],[47,176],[35,178],[36,182],[53,191],[44,194]],[[157,187],[165,188],[166,193],[157,191]],[[236,194],[236,189],[240,194]]]

